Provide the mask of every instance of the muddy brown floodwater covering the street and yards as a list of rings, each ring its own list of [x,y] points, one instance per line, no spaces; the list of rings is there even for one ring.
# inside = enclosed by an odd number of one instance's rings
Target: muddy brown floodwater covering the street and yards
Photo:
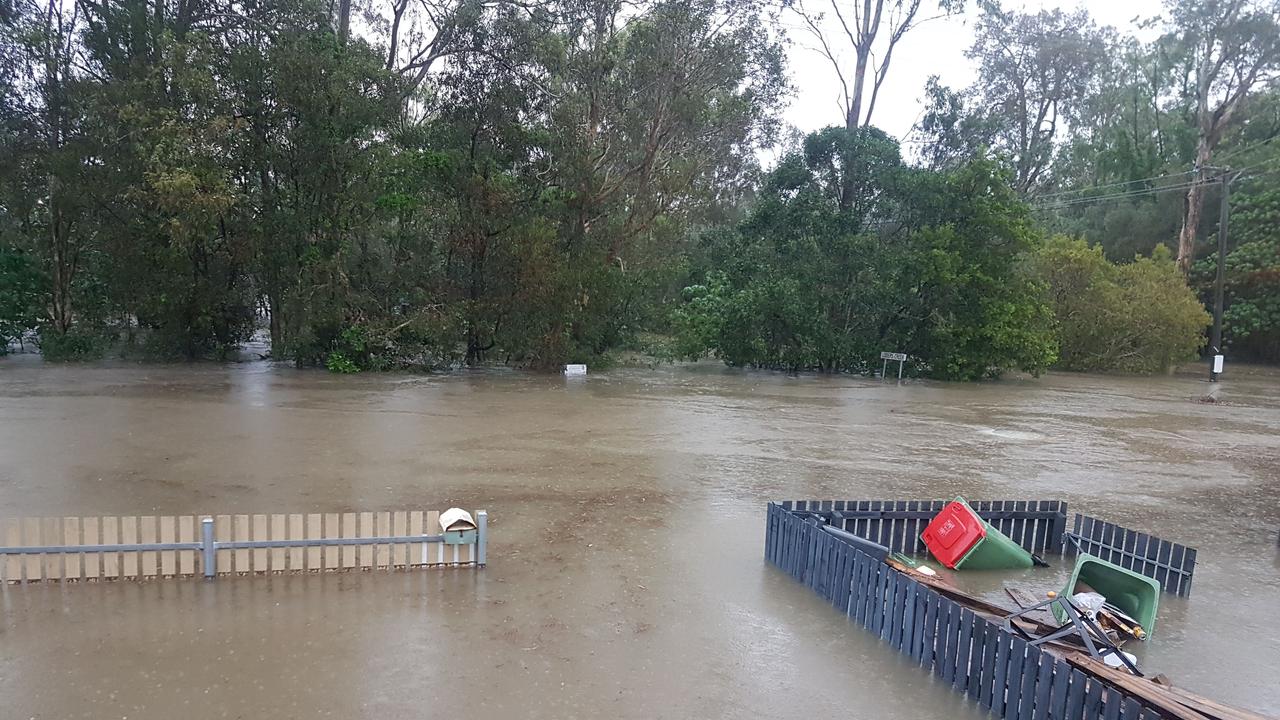
[[[0,715],[975,720],[762,560],[769,500],[956,493],[1198,547],[1144,666],[1280,714],[1280,374],[1208,387],[4,359],[0,515],[460,505],[492,539],[483,571],[8,587]]]

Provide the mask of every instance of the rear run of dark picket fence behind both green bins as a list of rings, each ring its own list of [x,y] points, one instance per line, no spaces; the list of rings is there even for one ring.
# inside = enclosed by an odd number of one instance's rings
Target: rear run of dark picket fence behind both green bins
[[[893,552],[923,555],[920,533],[946,500],[800,500],[783,510],[823,521]],[[1188,596],[1196,573],[1196,550],[1097,518],[1074,514],[1068,530],[1066,502],[1060,500],[977,500],[978,515],[1028,552],[1088,552],[1155,578],[1162,591]]]

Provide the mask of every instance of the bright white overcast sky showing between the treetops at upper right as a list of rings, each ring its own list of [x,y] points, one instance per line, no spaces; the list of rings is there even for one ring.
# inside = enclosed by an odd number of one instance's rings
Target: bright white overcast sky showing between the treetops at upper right
[[[814,9],[829,8],[829,0],[808,0],[806,4]],[[920,12],[924,13],[929,4],[931,1],[925,0]],[[973,23],[977,14],[972,8],[973,3],[969,5],[969,12],[961,17],[932,20],[904,36],[893,51],[888,79],[876,101],[872,124],[899,138],[906,138],[923,108],[924,82],[929,76],[941,76],[945,85],[957,88],[973,82],[973,63],[964,56],[965,50],[973,44]],[[1160,0],[1004,0],[1004,6],[1032,12],[1052,8],[1071,10],[1083,6],[1097,23],[1128,33],[1135,29],[1135,18],[1158,14],[1161,3]],[[831,69],[831,63],[813,50],[815,45],[813,36],[804,29],[797,17],[785,14],[782,22],[792,40],[790,68],[795,85],[795,96],[783,119],[801,131],[842,124],[840,83]]]

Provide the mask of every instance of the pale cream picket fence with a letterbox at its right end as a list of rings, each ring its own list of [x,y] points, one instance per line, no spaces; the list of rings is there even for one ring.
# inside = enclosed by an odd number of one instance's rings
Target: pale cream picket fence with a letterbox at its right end
[[[113,580],[485,564],[488,514],[24,518],[0,523],[0,580]],[[463,524],[466,525],[466,523]]]

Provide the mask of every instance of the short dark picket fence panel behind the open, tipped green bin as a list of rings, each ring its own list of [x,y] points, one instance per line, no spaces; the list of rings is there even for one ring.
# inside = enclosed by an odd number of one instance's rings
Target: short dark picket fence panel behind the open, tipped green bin
[[[1160,582],[1165,592],[1187,597],[1196,574],[1196,548],[1075,514],[1062,537],[1064,555],[1088,552]]]

